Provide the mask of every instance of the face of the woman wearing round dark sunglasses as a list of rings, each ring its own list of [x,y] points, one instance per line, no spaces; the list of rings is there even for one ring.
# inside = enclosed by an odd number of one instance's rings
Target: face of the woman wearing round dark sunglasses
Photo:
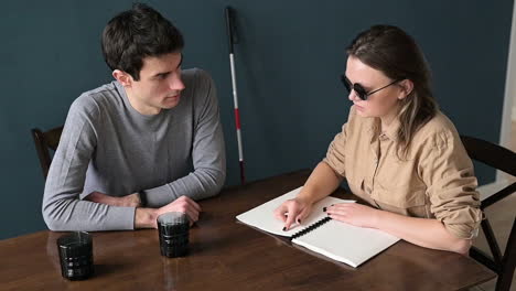
[[[352,55],[347,57],[345,76],[351,83],[352,88],[348,98],[355,105],[356,112],[362,117],[383,118],[394,115],[397,110],[398,100],[406,97],[406,90],[399,83],[387,86],[395,80]],[[363,100],[353,89],[354,84],[359,84],[366,93],[387,87],[367,96]]]

